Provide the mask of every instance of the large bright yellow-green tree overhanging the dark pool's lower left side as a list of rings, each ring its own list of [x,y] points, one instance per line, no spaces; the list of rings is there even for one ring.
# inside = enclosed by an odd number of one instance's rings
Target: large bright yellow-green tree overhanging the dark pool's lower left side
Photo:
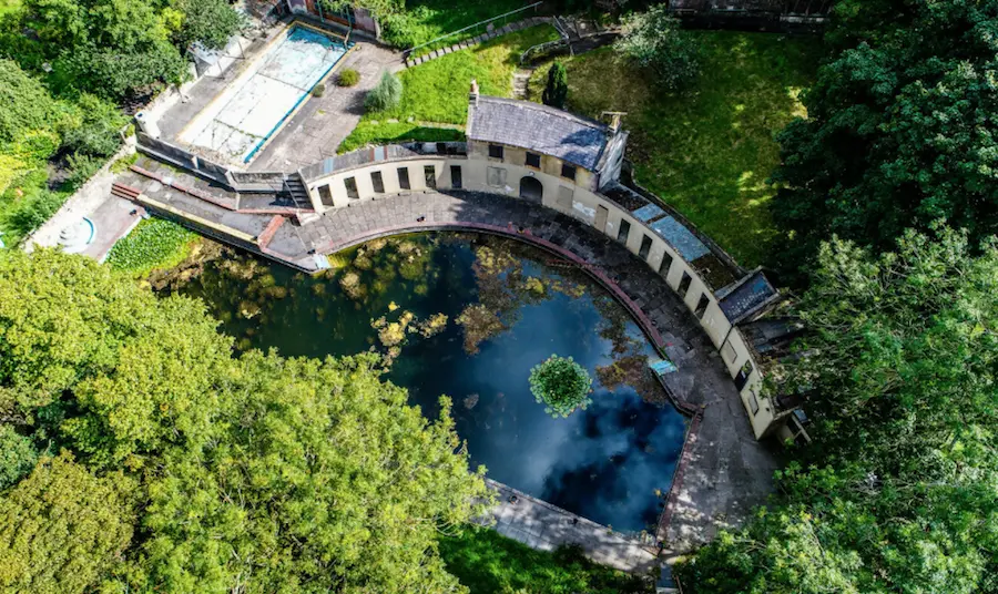
[[[449,401],[429,423],[373,355],[319,362],[253,351],[215,445],[166,453],[144,524],[170,591],[461,592],[437,534],[485,494]],[[455,454],[457,452],[457,454]],[[479,471],[483,472],[483,469]],[[179,521],[191,519],[194,521]]]

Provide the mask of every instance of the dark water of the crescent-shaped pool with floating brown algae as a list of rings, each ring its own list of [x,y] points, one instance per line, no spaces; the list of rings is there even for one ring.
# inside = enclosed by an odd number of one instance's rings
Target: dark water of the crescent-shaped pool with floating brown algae
[[[617,530],[655,524],[685,424],[645,369],[651,345],[607,291],[544,253],[477,235],[378,240],[336,259],[334,274],[309,277],[228,255],[182,290],[243,349],[381,354],[387,379],[428,416],[452,398],[490,478]],[[593,377],[592,404],[568,418],[548,416],[527,381],[552,354]]]

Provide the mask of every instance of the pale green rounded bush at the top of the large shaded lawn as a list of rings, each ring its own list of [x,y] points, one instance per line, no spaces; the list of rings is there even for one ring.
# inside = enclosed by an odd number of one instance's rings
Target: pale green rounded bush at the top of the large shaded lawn
[[[696,41],[681,29],[665,4],[628,17],[615,48],[669,90],[681,89],[699,72]]]

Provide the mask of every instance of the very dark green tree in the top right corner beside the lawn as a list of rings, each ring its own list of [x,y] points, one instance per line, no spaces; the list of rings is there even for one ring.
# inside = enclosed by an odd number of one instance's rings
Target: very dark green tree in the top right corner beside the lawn
[[[843,0],[807,119],[780,135],[773,204],[782,267],[832,234],[889,249],[945,217],[974,242],[998,231],[998,1]]]

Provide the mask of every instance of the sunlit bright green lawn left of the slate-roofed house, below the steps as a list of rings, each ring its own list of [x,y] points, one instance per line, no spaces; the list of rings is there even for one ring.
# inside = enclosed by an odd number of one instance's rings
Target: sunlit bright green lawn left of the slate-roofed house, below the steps
[[[398,107],[365,114],[339,151],[350,151],[366,143],[455,140],[452,130],[422,127],[419,123],[464,125],[471,79],[478,80],[482,94],[509,96],[512,74],[523,50],[554,39],[558,39],[558,32],[553,27],[531,27],[405,70],[399,75],[404,90]],[[409,117],[415,121],[408,123]],[[388,123],[389,119],[398,120],[398,123]]]

